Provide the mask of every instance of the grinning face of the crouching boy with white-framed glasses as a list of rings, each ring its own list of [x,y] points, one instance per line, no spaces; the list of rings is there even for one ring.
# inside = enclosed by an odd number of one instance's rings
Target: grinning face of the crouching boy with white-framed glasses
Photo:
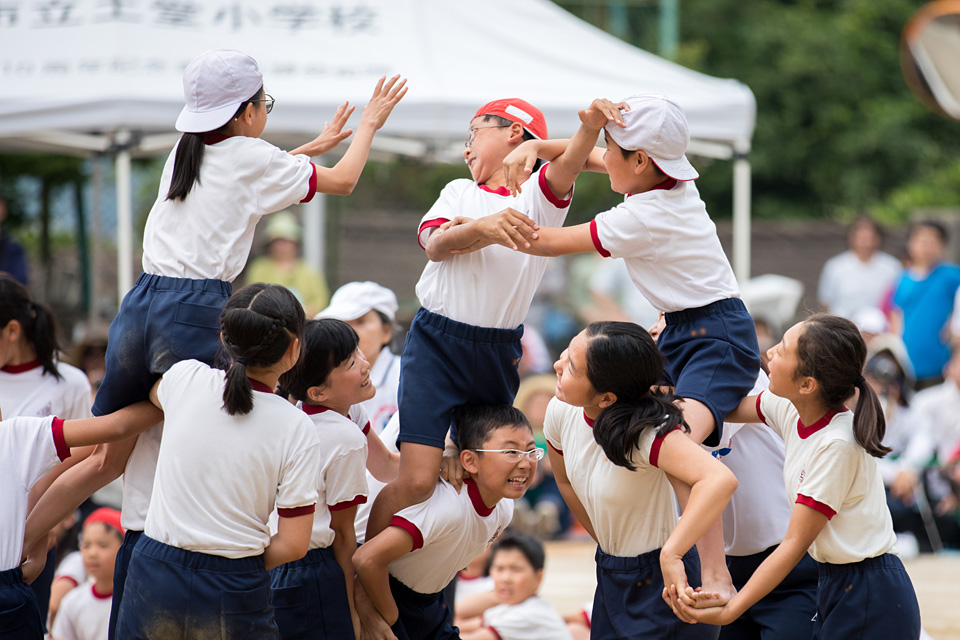
[[[494,429],[481,448],[531,451],[536,446],[530,427],[511,424]],[[519,462],[510,462],[503,453],[494,451],[463,451],[461,461],[476,480],[480,496],[488,507],[502,498],[522,497],[537,471],[537,462],[528,456],[521,456]]]

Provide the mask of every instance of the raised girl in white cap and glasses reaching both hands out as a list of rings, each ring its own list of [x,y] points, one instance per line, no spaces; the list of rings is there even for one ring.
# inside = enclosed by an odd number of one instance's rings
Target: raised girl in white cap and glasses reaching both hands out
[[[145,399],[174,363],[212,363],[220,310],[243,269],[264,215],[320,191],[353,191],[376,131],[406,93],[399,76],[381,78],[363,110],[353,144],[334,167],[310,162],[352,131],[344,103],[313,141],[287,153],[260,140],[274,99],[256,61],[231,49],[208,51],[184,70],[183,132],[160,178],[147,218],[143,274],[110,326],[106,375],[93,412]]]

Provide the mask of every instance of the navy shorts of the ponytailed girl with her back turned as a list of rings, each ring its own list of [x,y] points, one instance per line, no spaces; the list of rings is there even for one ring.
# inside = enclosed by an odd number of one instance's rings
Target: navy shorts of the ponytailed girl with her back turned
[[[130,558],[118,640],[279,640],[263,556],[231,559],[140,537]]]

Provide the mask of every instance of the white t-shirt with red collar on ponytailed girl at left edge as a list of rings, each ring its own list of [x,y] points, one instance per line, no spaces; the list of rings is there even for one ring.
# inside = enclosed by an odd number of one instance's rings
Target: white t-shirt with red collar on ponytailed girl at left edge
[[[4,418],[57,416],[64,420],[89,418],[91,391],[87,374],[65,362],[57,363],[63,376],[45,374],[40,361],[0,369],[0,411]]]

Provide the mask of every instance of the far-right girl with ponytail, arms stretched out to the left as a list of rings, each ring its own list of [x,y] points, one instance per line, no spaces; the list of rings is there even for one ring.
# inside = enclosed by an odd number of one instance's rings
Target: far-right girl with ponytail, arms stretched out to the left
[[[783,542],[723,607],[680,614],[712,624],[737,619],[808,552],[818,562],[815,638],[914,639],[917,596],[900,559],[877,466],[883,411],[864,381],[867,348],[844,318],[815,315],[767,352],[770,388],[744,398],[728,422],[763,421],[786,447],[783,477],[795,503]],[[850,411],[847,405],[854,406]]]

